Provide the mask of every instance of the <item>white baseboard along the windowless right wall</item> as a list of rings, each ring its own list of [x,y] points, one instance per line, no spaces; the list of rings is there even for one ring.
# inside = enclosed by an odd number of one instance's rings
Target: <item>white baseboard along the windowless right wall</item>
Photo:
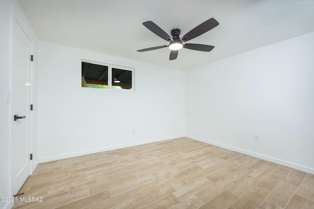
[[[273,157],[270,157],[270,156],[262,155],[262,154],[259,154],[259,153],[256,153],[256,152],[251,152],[251,151],[244,150],[244,149],[239,149],[237,147],[229,146],[229,145],[218,143],[218,142],[215,142],[215,141],[210,141],[210,140],[207,140],[207,139],[201,139],[201,138],[190,136],[190,135],[185,135],[185,137],[190,138],[190,139],[195,139],[195,140],[198,140],[198,141],[202,141],[202,142],[205,142],[205,143],[208,143],[208,144],[212,144],[212,145],[215,145],[215,146],[223,147],[223,148],[226,148],[226,149],[230,149],[230,150],[233,150],[235,152],[243,153],[243,154],[246,154],[246,155],[249,155],[249,156],[252,156],[252,157],[256,157],[256,158],[260,158],[262,160],[266,160],[266,161],[270,161],[270,162],[273,162],[273,163],[282,164],[282,165],[285,165],[285,166],[288,166],[288,167],[291,167],[291,168],[295,168],[295,169],[298,169],[298,170],[301,170],[301,171],[305,171],[307,173],[314,174],[314,168],[312,168],[312,167],[308,167],[308,166],[305,166],[305,165],[300,165],[300,164],[297,164],[297,163],[284,161],[284,160],[281,160],[281,159],[278,159],[278,158],[273,158]]]

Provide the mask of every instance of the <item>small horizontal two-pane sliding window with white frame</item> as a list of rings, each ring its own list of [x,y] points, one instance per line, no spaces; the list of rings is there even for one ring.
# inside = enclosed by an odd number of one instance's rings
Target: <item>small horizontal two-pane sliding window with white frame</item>
[[[81,86],[134,90],[134,69],[82,61]]]

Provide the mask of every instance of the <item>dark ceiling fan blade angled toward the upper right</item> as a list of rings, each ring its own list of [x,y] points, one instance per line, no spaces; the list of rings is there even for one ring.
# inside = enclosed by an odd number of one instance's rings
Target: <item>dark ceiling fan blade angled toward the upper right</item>
[[[199,24],[198,26],[194,27],[192,30],[190,30],[188,33],[186,33],[181,40],[183,42],[187,42],[191,39],[194,39],[203,33],[206,33],[207,31],[211,30],[212,28],[219,25],[219,23],[214,19],[210,18],[209,20],[205,21],[204,23]]]

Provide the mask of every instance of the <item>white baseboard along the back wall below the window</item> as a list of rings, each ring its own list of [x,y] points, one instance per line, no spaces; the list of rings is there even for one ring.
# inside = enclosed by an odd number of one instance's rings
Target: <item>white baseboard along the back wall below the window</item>
[[[62,155],[55,155],[55,156],[51,156],[51,157],[41,158],[41,159],[39,159],[39,163],[45,163],[45,162],[49,162],[49,161],[61,160],[61,159],[65,159],[65,158],[72,158],[72,157],[77,157],[77,156],[81,156],[81,155],[87,155],[87,154],[92,154],[92,153],[97,153],[97,152],[104,152],[104,151],[113,150],[113,149],[120,149],[120,148],[125,148],[125,147],[130,147],[130,146],[148,144],[148,143],[152,143],[152,142],[164,141],[164,140],[169,140],[169,139],[176,139],[176,138],[181,138],[181,137],[184,137],[184,135],[159,138],[159,139],[151,139],[151,140],[145,140],[145,141],[136,141],[136,142],[132,142],[132,143],[119,144],[119,145],[114,145],[114,146],[102,147],[102,148],[98,148],[98,149],[90,149],[90,150],[83,150],[83,151],[79,151],[79,152],[72,152],[72,153],[67,153],[67,154],[62,154]]]

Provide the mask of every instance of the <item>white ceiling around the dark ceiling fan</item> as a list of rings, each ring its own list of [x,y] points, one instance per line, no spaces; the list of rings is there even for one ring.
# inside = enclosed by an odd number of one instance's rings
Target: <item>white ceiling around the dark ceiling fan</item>
[[[18,1],[40,40],[180,70],[314,31],[313,0]],[[210,52],[183,48],[169,61],[168,47],[136,51],[168,45],[143,22],[183,36],[212,17],[220,24],[187,42],[215,46]]]

